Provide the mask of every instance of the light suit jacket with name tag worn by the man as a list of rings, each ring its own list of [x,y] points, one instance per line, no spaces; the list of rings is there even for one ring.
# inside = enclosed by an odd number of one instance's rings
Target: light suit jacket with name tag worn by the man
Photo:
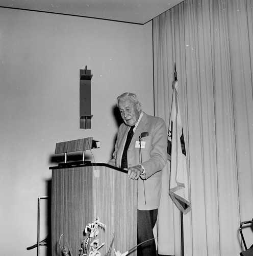
[[[120,167],[126,136],[130,127],[125,123],[119,126],[113,159],[109,164]],[[148,132],[142,138],[145,148],[139,146],[139,136]],[[143,113],[128,149],[128,167],[142,164],[146,178],[138,179],[138,209],[157,209],[161,196],[161,172],[167,162],[167,130],[162,118]]]

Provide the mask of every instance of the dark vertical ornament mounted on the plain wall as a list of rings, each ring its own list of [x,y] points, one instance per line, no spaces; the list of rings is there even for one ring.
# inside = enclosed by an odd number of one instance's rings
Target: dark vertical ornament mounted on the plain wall
[[[91,71],[80,70],[80,129],[91,129]]]

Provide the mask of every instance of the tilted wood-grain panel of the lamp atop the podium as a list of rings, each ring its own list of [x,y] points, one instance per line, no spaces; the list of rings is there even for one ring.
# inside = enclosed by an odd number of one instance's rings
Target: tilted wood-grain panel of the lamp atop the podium
[[[88,137],[56,143],[55,154],[90,150],[92,148],[92,139],[92,137]]]

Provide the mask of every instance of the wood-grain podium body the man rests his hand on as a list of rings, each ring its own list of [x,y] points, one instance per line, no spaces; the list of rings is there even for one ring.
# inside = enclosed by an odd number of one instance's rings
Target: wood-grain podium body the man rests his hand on
[[[121,253],[137,244],[137,181],[124,170],[108,164],[83,163],[52,169],[52,256],[61,256],[59,246],[68,245],[74,256],[84,238],[84,229],[99,217],[101,255],[108,251],[113,233],[115,250]],[[114,252],[113,254],[114,255]],[[130,253],[136,255],[136,250]]]

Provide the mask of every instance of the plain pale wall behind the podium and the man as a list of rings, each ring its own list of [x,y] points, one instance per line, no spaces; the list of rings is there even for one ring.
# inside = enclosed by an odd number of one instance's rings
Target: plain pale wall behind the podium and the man
[[[91,129],[79,128],[79,72],[91,80]],[[47,196],[57,142],[93,137],[110,160],[116,97],[135,92],[154,114],[152,24],[0,8],[1,255],[36,255],[37,199]],[[91,220],[92,221],[92,220]],[[41,239],[47,236],[41,201]],[[81,227],[84,228],[84,227]],[[41,247],[40,255],[45,255]]]

